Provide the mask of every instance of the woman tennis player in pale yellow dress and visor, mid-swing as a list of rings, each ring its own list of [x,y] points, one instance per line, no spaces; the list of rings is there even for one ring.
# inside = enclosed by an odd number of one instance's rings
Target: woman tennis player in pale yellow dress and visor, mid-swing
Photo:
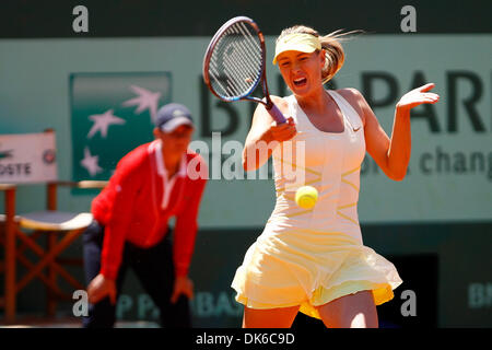
[[[342,67],[343,34],[320,36],[296,25],[277,39],[273,63],[293,92],[272,96],[289,122],[277,124],[258,105],[246,138],[243,162],[256,170],[273,156],[277,205],[262,234],[247,250],[232,287],[245,305],[243,327],[291,327],[298,311],[327,327],[377,327],[376,305],[394,298],[402,281],[395,266],[364,246],[358,218],[360,170],[367,151],[394,180],[405,178],[410,161],[410,109],[436,103],[426,84],[396,105],[391,138],[355,89],[325,90]],[[255,159],[263,142],[279,145]],[[282,150],[305,142],[305,184],[318,191],[311,210],[296,206],[282,176]],[[295,166],[295,164],[293,165]],[[298,187],[298,186],[296,186]]]

